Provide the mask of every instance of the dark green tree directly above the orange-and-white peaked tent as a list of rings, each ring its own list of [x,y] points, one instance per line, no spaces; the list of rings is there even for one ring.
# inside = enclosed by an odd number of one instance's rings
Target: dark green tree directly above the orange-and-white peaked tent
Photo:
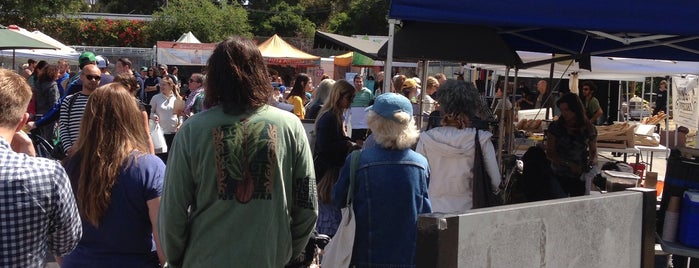
[[[305,8],[299,4],[290,6],[286,2],[280,2],[272,7],[272,15],[262,21],[255,33],[263,36],[279,34],[312,37],[315,24],[303,17],[304,10]]]

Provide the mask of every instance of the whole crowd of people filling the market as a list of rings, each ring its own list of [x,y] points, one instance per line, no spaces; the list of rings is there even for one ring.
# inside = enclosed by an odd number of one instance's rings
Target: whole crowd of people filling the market
[[[353,267],[412,267],[419,214],[473,208],[476,146],[486,183],[502,187],[471,82],[436,74],[423,89],[397,75],[370,90],[357,75],[314,88],[301,73],[281,97],[257,46],[230,37],[183,98],[165,65],[120,58],[112,75],[105,61],[81,54],[75,78],[60,61],[0,69],[0,266],[39,267],[48,252],[63,267],[305,267],[351,192]],[[596,133],[577,95],[557,105],[547,152],[578,195],[571,174],[594,161]],[[439,124],[419,129],[419,110]],[[315,120],[314,139],[299,119]],[[33,157],[32,135],[64,156]]]

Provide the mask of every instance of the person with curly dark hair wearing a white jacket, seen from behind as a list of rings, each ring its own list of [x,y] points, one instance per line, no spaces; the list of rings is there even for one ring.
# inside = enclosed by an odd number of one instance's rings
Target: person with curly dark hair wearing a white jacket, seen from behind
[[[471,186],[476,142],[482,148],[492,189],[500,185],[500,171],[490,141],[493,134],[473,127],[476,113],[485,105],[473,83],[449,79],[439,87],[439,92],[441,126],[420,134],[415,150],[427,158],[432,169],[430,200],[434,211],[464,212],[473,207]]]

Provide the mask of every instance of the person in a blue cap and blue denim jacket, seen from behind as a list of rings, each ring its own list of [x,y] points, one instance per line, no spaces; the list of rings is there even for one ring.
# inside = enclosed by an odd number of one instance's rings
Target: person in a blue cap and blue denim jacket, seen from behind
[[[418,214],[430,213],[427,159],[412,150],[419,132],[413,107],[401,94],[379,95],[367,108],[376,146],[359,153],[354,185],[348,156],[333,189],[337,208],[352,196],[356,232],[351,267],[414,267]]]

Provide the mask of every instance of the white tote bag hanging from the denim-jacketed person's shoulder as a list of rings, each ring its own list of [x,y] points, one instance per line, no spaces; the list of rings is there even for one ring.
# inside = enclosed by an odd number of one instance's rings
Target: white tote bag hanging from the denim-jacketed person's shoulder
[[[350,162],[350,184],[347,190],[347,206],[342,208],[342,221],[337,228],[335,236],[330,240],[323,252],[321,267],[345,268],[349,267],[352,261],[352,247],[354,247],[354,232],[356,223],[354,220],[354,210],[352,210],[352,197],[354,189],[354,177],[359,164],[361,151],[352,152],[352,162]]]

